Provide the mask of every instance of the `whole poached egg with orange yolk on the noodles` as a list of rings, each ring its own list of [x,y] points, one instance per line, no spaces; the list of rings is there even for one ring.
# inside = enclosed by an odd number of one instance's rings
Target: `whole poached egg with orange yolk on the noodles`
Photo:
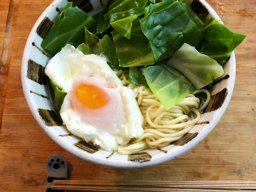
[[[68,44],[49,60],[45,74],[67,92],[60,116],[74,135],[113,151],[143,133],[133,91],[102,55],[84,55]]]

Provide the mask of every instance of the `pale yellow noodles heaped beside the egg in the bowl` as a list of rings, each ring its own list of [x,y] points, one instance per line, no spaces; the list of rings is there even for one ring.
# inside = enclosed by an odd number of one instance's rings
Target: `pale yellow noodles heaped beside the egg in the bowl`
[[[164,147],[179,140],[198,122],[201,117],[200,111],[208,105],[211,98],[209,91],[196,90],[171,109],[165,109],[148,87],[130,86],[124,74],[122,74],[121,80],[124,85],[132,87],[144,116],[144,133],[141,137],[133,140],[130,145],[118,148],[118,153],[123,155],[137,153],[147,148]],[[195,94],[201,92],[207,95],[207,99],[198,109],[200,100],[195,97]]]

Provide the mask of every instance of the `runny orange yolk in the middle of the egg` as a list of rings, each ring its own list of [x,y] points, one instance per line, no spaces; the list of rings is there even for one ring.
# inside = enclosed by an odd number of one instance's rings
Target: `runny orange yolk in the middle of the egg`
[[[84,106],[97,109],[105,106],[109,101],[109,96],[100,87],[95,85],[82,84],[76,89],[76,97]]]

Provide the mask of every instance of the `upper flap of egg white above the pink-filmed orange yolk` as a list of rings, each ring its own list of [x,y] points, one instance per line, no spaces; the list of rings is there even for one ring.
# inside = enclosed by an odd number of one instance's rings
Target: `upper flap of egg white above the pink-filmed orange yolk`
[[[95,54],[84,55],[69,44],[49,60],[45,74],[65,92],[70,91],[74,79],[81,76],[99,76],[117,87],[123,86],[108,66],[106,58]]]

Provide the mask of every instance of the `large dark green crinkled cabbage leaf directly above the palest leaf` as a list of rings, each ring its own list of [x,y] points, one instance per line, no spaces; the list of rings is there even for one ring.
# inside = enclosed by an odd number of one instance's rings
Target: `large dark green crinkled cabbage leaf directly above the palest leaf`
[[[140,20],[143,34],[151,42],[155,60],[171,57],[183,43],[198,46],[203,22],[185,3],[166,0],[149,5]],[[166,50],[166,51],[164,51]]]

